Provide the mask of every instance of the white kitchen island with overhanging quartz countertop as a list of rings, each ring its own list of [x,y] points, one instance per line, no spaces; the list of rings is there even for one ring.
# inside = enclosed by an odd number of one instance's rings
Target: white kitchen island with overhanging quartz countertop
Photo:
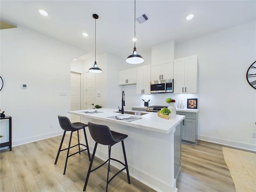
[[[176,179],[180,171],[181,121],[185,116],[177,115],[169,120],[149,112],[142,115],[142,119],[133,122],[108,118],[120,115],[118,109],[101,108],[103,113],[87,114],[86,110],[69,111],[69,114],[81,116],[81,122],[88,121],[96,124],[108,125],[113,131],[124,133],[128,138],[124,140],[130,176],[162,192],[177,191]],[[134,116],[134,115],[129,115]],[[89,149],[92,153],[95,141],[86,129]],[[85,144],[83,134],[81,143]],[[108,146],[98,145],[95,156],[102,160],[108,159]],[[111,157],[124,162],[121,143],[111,149]],[[123,165],[111,161],[111,165],[122,169]],[[125,172],[125,171],[124,171]],[[114,179],[115,180],[115,179]],[[112,182],[115,182],[115,181]],[[89,180],[90,182],[90,180]]]

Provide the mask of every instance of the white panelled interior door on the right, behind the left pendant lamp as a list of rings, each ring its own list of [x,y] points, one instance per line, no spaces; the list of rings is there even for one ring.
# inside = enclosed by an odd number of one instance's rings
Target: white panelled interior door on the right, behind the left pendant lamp
[[[95,105],[95,73],[87,72],[85,78],[84,109],[88,109],[88,106]]]

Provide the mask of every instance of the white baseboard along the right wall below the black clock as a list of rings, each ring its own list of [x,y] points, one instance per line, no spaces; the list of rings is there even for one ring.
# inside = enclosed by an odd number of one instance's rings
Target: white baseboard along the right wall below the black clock
[[[204,136],[204,135],[197,135],[197,139],[203,140],[203,141],[209,141],[209,142],[217,143],[217,144],[221,144],[221,145],[227,145],[230,147],[236,147],[236,148],[256,151],[256,145],[252,145],[249,143],[242,143],[242,142],[237,142],[237,141],[219,139],[219,138],[208,137],[208,136]]]

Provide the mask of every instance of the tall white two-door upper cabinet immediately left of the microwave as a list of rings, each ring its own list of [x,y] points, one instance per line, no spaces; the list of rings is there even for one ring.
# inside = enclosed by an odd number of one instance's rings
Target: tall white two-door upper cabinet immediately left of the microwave
[[[137,94],[150,94],[150,71],[150,65],[137,68]]]

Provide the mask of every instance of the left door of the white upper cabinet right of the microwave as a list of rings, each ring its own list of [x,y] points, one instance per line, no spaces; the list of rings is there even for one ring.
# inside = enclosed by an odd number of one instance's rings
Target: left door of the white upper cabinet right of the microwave
[[[173,68],[173,92],[185,93],[185,59],[175,59]]]

